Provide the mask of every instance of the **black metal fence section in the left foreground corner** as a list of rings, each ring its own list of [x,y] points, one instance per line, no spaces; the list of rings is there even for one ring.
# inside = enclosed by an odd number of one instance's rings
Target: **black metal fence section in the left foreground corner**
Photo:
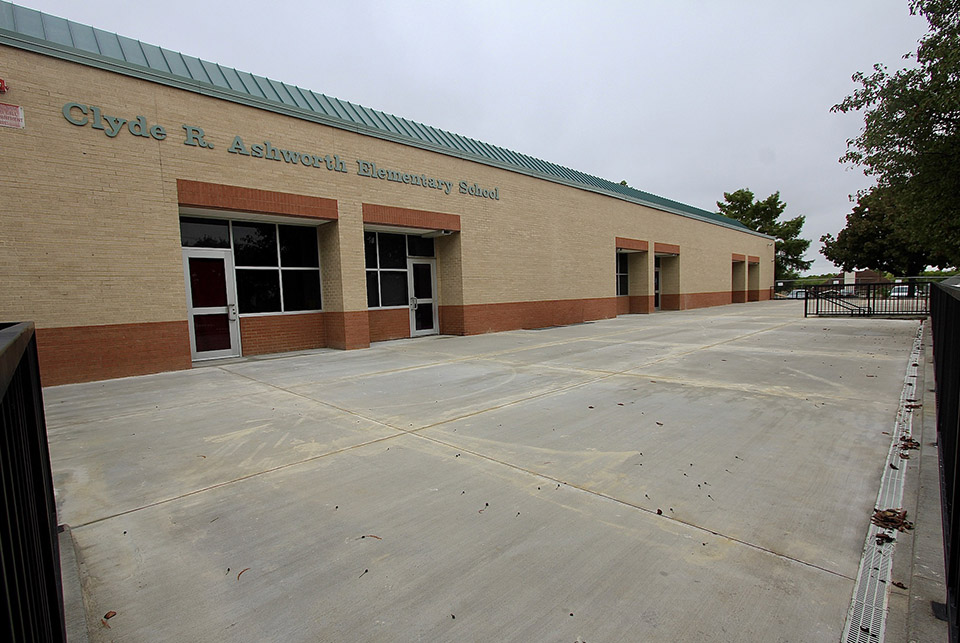
[[[33,324],[0,324],[0,557],[12,641],[66,641],[57,506]]]

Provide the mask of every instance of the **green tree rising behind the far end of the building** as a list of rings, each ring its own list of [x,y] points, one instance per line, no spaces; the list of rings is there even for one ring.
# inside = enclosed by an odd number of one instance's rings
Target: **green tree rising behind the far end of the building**
[[[810,247],[808,239],[800,238],[805,217],[797,216],[780,221],[787,204],[774,192],[763,201],[757,201],[753,192],[741,188],[736,192],[724,192],[723,201],[717,201],[720,214],[740,221],[751,230],[777,238],[774,256],[774,279],[796,279],[808,270],[812,261],[804,261],[803,253]]]

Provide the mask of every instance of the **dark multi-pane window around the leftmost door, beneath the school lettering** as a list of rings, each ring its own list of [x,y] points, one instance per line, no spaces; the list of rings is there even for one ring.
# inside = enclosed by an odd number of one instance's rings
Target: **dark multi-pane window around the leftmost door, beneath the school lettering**
[[[241,314],[321,309],[315,227],[183,217],[180,241],[190,248],[233,248]]]

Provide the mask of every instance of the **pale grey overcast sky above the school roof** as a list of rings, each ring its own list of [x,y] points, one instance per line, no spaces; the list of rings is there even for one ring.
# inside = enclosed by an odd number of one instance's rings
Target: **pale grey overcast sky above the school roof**
[[[716,211],[780,191],[820,235],[870,185],[830,107],[926,21],[907,0],[21,0]]]

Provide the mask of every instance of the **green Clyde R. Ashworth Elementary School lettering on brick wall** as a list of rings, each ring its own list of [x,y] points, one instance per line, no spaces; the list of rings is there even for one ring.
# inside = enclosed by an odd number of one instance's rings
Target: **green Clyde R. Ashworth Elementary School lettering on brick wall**
[[[70,102],[63,106],[63,118],[71,125],[77,127],[90,126],[92,129],[102,131],[108,138],[116,138],[121,132],[127,131],[130,135],[148,138],[157,141],[164,141],[168,137],[167,128],[163,125],[147,121],[146,117],[137,115],[132,119],[113,116],[103,111],[96,105],[84,105],[82,103]],[[195,125],[181,125],[183,130],[183,144],[188,147],[198,149],[215,149],[214,141],[204,132],[203,128]],[[227,147],[229,154],[235,154],[238,157],[246,156],[251,159],[263,159],[267,161],[277,161],[290,165],[300,165],[316,169],[326,169],[330,172],[340,172],[347,174],[347,161],[340,158],[337,154],[320,154],[303,150],[287,150],[277,147],[270,141],[258,141],[247,144],[241,137],[234,136],[230,146]],[[444,194],[451,194],[454,187],[458,194],[465,194],[494,201],[500,200],[500,188],[485,188],[477,183],[468,181],[459,181],[454,184],[453,181],[428,176],[422,172],[411,172],[409,170],[395,170],[379,167],[374,161],[358,160],[357,176],[371,179],[390,181],[393,183],[402,183],[414,187],[426,189],[435,189]]]

